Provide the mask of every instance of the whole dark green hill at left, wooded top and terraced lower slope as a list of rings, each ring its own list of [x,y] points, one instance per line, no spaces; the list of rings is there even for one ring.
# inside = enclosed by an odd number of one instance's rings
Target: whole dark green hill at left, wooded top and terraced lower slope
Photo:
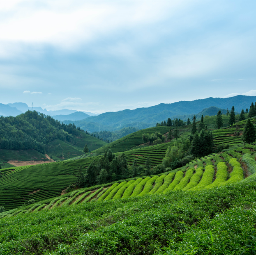
[[[38,153],[34,153],[33,157],[24,157],[24,161],[35,161],[42,158],[48,160],[45,154],[52,156],[55,160],[68,159],[83,155],[86,143],[90,150],[107,144],[85,134],[75,125],[60,124],[50,116],[39,114],[36,111],[28,111],[16,117],[0,117],[0,149],[5,149],[4,154],[0,150],[0,159],[4,163],[19,160],[19,151],[27,151],[29,154],[31,150]],[[8,154],[8,160],[5,154]]]

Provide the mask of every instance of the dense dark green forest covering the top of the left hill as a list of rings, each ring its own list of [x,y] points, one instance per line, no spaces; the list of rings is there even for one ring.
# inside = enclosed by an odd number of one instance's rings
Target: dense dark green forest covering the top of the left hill
[[[35,149],[45,153],[46,144],[59,139],[72,142],[80,128],[65,125],[50,116],[28,111],[16,117],[0,117],[0,148],[26,150]]]

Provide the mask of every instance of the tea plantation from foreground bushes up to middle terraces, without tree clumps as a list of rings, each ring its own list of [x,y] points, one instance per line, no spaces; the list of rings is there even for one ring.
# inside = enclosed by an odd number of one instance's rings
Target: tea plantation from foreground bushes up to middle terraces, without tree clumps
[[[80,165],[84,170],[108,148],[125,153],[130,165],[145,164],[148,155],[152,166],[161,164],[175,139],[143,147],[142,134],[166,134],[168,127],[140,130],[69,160],[1,169],[0,254],[256,254],[256,143],[242,144],[245,121],[214,130],[212,119],[205,124],[215,148],[230,147],[157,175],[65,193]],[[191,125],[179,131],[187,139]],[[65,142],[51,143],[48,150],[67,157]]]

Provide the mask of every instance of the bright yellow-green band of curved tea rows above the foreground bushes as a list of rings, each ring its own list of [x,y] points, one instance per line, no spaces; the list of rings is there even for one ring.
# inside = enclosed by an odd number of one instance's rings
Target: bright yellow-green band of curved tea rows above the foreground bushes
[[[60,192],[57,187],[55,191],[47,193],[42,189],[40,190],[41,192],[37,191],[30,195],[26,194],[28,190],[24,190],[22,194],[25,198],[33,197],[36,201],[44,198],[50,199],[3,212],[0,217],[52,209],[58,206],[75,206],[78,203],[88,203],[92,200],[150,196],[150,194],[165,194],[175,190],[190,192],[239,182],[256,173],[255,151],[256,145],[235,146],[227,152],[205,156],[190,162],[182,168],[162,173],[161,175],[120,180],[112,184],[78,189],[58,198],[51,198]],[[23,171],[26,169],[23,169]],[[16,169],[16,173],[19,173],[18,169]],[[19,194],[21,193],[19,192]],[[20,200],[23,200],[22,196]]]

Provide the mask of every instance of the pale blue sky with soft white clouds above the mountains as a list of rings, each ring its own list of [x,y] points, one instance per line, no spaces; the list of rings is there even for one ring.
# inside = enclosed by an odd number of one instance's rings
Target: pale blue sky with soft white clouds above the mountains
[[[256,96],[256,1],[0,1],[0,103],[116,112]]]

